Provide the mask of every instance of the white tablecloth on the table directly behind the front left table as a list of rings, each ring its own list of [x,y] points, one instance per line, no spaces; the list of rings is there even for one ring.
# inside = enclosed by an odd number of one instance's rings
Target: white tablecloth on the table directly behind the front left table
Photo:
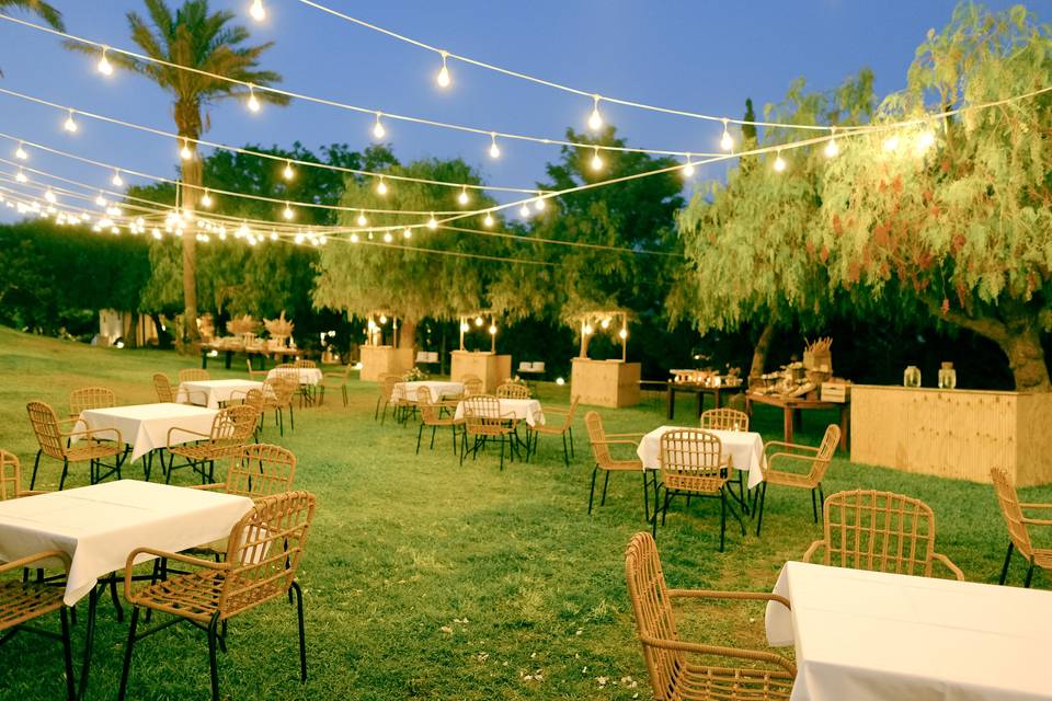
[[[132,460],[137,460],[168,444],[168,429],[174,426],[208,434],[211,421],[218,413],[215,409],[191,404],[133,404],[110,409],[89,409],[80,413],[78,427],[116,428],[124,443],[132,446]],[[201,436],[175,432],[172,443],[201,440]]]

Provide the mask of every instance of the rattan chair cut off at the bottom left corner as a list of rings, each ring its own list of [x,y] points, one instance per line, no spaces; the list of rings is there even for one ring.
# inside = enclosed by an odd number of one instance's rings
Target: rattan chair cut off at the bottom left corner
[[[65,571],[62,576],[68,575],[69,555],[60,550],[47,550],[28,558],[0,564],[0,644],[8,642],[20,631],[60,641],[66,670],[66,698],[72,701],[77,698],[77,685],[73,679],[73,653],[69,635],[69,617],[66,605],[62,602],[65,588],[55,586],[47,581],[31,582],[24,579],[24,573],[28,570],[39,570],[43,565],[55,561],[61,562]],[[18,573],[16,578],[5,576],[15,573]],[[28,625],[31,621],[35,621],[53,611],[58,611],[59,633]],[[26,660],[11,658],[7,662],[13,667]],[[41,690],[41,693],[48,698],[57,696],[44,689]],[[0,696],[5,694],[0,693]]]

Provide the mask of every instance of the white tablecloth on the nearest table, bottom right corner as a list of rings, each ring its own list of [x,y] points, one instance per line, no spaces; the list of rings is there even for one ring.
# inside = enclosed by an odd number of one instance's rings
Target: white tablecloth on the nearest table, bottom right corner
[[[794,701],[1052,699],[1052,593],[788,562],[775,594]]]

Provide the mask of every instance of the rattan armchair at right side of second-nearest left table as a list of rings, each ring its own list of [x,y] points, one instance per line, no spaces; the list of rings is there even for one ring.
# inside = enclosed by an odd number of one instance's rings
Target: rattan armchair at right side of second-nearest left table
[[[255,407],[238,404],[219,410],[207,434],[179,426],[169,428],[165,484],[172,481],[172,473],[180,468],[191,468],[201,475],[202,484],[215,482],[216,460],[229,460],[240,455],[242,447],[255,433],[259,421],[260,412]],[[194,443],[185,443],[187,436],[194,436]],[[178,438],[174,443],[173,437]],[[185,462],[175,464],[176,457]]]

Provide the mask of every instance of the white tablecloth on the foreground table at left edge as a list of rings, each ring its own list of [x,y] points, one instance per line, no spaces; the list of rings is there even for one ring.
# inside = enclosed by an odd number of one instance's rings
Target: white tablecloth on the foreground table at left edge
[[[64,600],[72,606],[136,548],[178,552],[221,540],[251,508],[245,496],[137,480],[24,496],[0,502],[0,561],[68,553]]]

